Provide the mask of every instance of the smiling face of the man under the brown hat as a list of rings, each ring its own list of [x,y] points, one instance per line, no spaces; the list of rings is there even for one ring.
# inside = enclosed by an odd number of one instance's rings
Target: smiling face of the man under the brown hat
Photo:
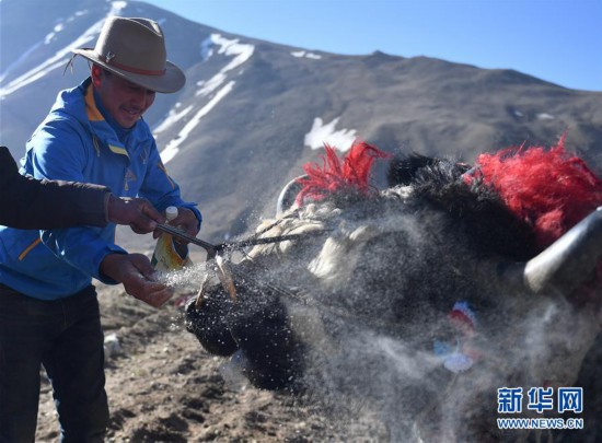
[[[96,75],[95,75],[96,74]],[[103,106],[124,128],[131,128],[153,104],[155,92],[99,69],[92,74]]]

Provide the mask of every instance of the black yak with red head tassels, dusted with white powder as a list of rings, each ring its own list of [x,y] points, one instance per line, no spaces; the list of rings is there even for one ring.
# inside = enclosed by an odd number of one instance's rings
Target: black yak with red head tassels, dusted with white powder
[[[306,237],[217,257],[188,330],[257,387],[378,411],[395,441],[521,436],[496,421],[509,387],[588,383],[572,417],[590,417],[602,182],[562,140],[474,166],[397,155],[379,190],[370,168],[387,156],[358,142],[340,161],[326,145],[256,233]],[[568,417],[549,409],[519,416]],[[563,438],[595,439],[584,424]]]

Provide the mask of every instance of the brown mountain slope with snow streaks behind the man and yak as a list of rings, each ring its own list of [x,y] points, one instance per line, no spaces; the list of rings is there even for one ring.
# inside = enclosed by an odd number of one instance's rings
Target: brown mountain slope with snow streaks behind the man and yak
[[[108,15],[160,23],[187,83],[159,94],[146,119],[184,197],[199,203],[207,241],[271,214],[282,184],[306,161],[320,162],[325,142],[345,152],[359,138],[471,162],[512,144],[553,144],[566,132],[567,148],[602,168],[602,93],[426,57],[289,47],[140,1],[0,0],[0,143],[18,159],[58,91],[88,74],[81,58],[63,72],[71,49],[93,47]]]

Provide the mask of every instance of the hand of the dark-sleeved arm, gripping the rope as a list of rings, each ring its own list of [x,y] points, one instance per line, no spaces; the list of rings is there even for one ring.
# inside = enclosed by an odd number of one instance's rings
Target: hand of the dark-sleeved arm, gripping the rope
[[[137,234],[147,234],[164,223],[165,217],[143,198],[108,197],[108,221],[117,224],[129,224]]]

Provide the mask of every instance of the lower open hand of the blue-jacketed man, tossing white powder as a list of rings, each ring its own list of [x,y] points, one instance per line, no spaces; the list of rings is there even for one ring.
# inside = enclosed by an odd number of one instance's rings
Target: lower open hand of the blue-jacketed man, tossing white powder
[[[109,254],[101,263],[101,272],[123,283],[126,292],[154,307],[162,306],[173,290],[157,281],[150,260],[142,254]]]

